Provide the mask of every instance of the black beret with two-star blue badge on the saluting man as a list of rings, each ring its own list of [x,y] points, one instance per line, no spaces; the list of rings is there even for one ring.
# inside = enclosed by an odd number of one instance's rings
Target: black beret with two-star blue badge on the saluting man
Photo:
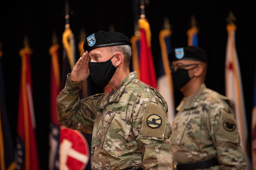
[[[131,47],[132,43],[123,33],[114,31],[98,31],[87,37],[83,43],[83,49],[84,51],[90,52],[95,48],[115,45],[129,45]]]

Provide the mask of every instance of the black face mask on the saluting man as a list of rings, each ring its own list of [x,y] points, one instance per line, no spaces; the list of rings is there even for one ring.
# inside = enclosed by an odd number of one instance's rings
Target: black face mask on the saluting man
[[[115,56],[115,55],[114,55]],[[117,67],[115,67],[111,59],[105,62],[91,62],[89,61],[89,70],[92,80],[100,86],[106,87],[110,82],[111,78],[115,74]]]

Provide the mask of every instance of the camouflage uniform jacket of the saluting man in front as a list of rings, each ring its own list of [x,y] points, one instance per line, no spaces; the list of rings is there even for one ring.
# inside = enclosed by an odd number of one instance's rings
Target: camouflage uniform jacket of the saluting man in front
[[[156,89],[132,72],[115,91],[80,100],[82,82],[69,77],[57,97],[58,121],[92,134],[92,169],[173,169],[167,103]]]

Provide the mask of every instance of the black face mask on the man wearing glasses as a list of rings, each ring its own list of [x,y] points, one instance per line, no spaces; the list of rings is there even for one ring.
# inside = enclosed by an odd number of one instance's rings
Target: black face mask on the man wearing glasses
[[[193,69],[193,68],[192,68]],[[179,68],[177,71],[172,70],[172,78],[173,78],[173,87],[177,90],[180,90],[184,85],[190,81],[191,78],[188,75],[187,69]]]

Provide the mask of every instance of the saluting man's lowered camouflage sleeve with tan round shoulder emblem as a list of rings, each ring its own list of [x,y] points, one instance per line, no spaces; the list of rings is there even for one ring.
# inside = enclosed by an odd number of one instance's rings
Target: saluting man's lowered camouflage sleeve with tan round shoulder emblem
[[[152,93],[142,93],[135,103],[132,126],[143,154],[143,168],[172,170],[173,152],[168,142],[172,130],[164,104]]]

